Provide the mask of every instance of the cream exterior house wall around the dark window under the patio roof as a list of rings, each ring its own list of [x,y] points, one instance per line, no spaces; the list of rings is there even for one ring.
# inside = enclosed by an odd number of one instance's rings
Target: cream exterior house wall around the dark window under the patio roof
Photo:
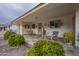
[[[73,24],[73,15],[72,14],[65,15],[65,16],[60,16],[60,17],[56,17],[56,18],[52,18],[52,19],[48,19],[48,20],[35,21],[34,24],[37,25],[39,22],[41,22],[44,25],[44,23],[48,24],[49,21],[57,20],[57,19],[61,19],[63,25],[60,28],[50,28],[48,25],[45,26],[47,36],[51,36],[53,31],[58,31],[59,32],[59,35],[58,35],[59,37],[63,37],[63,34],[65,32],[74,32],[74,29],[73,29],[74,24]],[[18,31],[17,31],[18,33],[20,33],[20,34],[29,34],[28,31],[30,29],[25,28],[23,24],[17,25],[17,28],[18,28]],[[39,33],[38,28],[35,28],[35,29],[31,28],[31,30],[33,31],[34,34]],[[42,30],[40,32],[42,32]]]

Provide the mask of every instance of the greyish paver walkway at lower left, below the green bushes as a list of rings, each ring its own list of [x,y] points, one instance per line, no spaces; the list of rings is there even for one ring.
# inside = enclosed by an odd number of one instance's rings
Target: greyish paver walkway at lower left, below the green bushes
[[[0,35],[0,56],[24,56],[26,48],[26,46],[10,48]]]

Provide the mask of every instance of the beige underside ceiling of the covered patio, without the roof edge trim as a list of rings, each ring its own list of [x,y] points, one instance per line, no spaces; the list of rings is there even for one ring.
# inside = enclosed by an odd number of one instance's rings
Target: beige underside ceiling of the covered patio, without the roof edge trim
[[[47,21],[48,19],[54,17],[69,14],[74,14],[73,4],[48,4],[47,6],[37,10],[31,15],[16,21],[16,23]]]

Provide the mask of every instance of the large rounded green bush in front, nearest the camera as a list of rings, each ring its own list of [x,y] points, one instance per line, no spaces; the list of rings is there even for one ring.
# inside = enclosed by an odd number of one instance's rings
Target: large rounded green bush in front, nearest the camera
[[[28,56],[64,56],[65,52],[59,43],[52,40],[38,40],[27,51]]]

